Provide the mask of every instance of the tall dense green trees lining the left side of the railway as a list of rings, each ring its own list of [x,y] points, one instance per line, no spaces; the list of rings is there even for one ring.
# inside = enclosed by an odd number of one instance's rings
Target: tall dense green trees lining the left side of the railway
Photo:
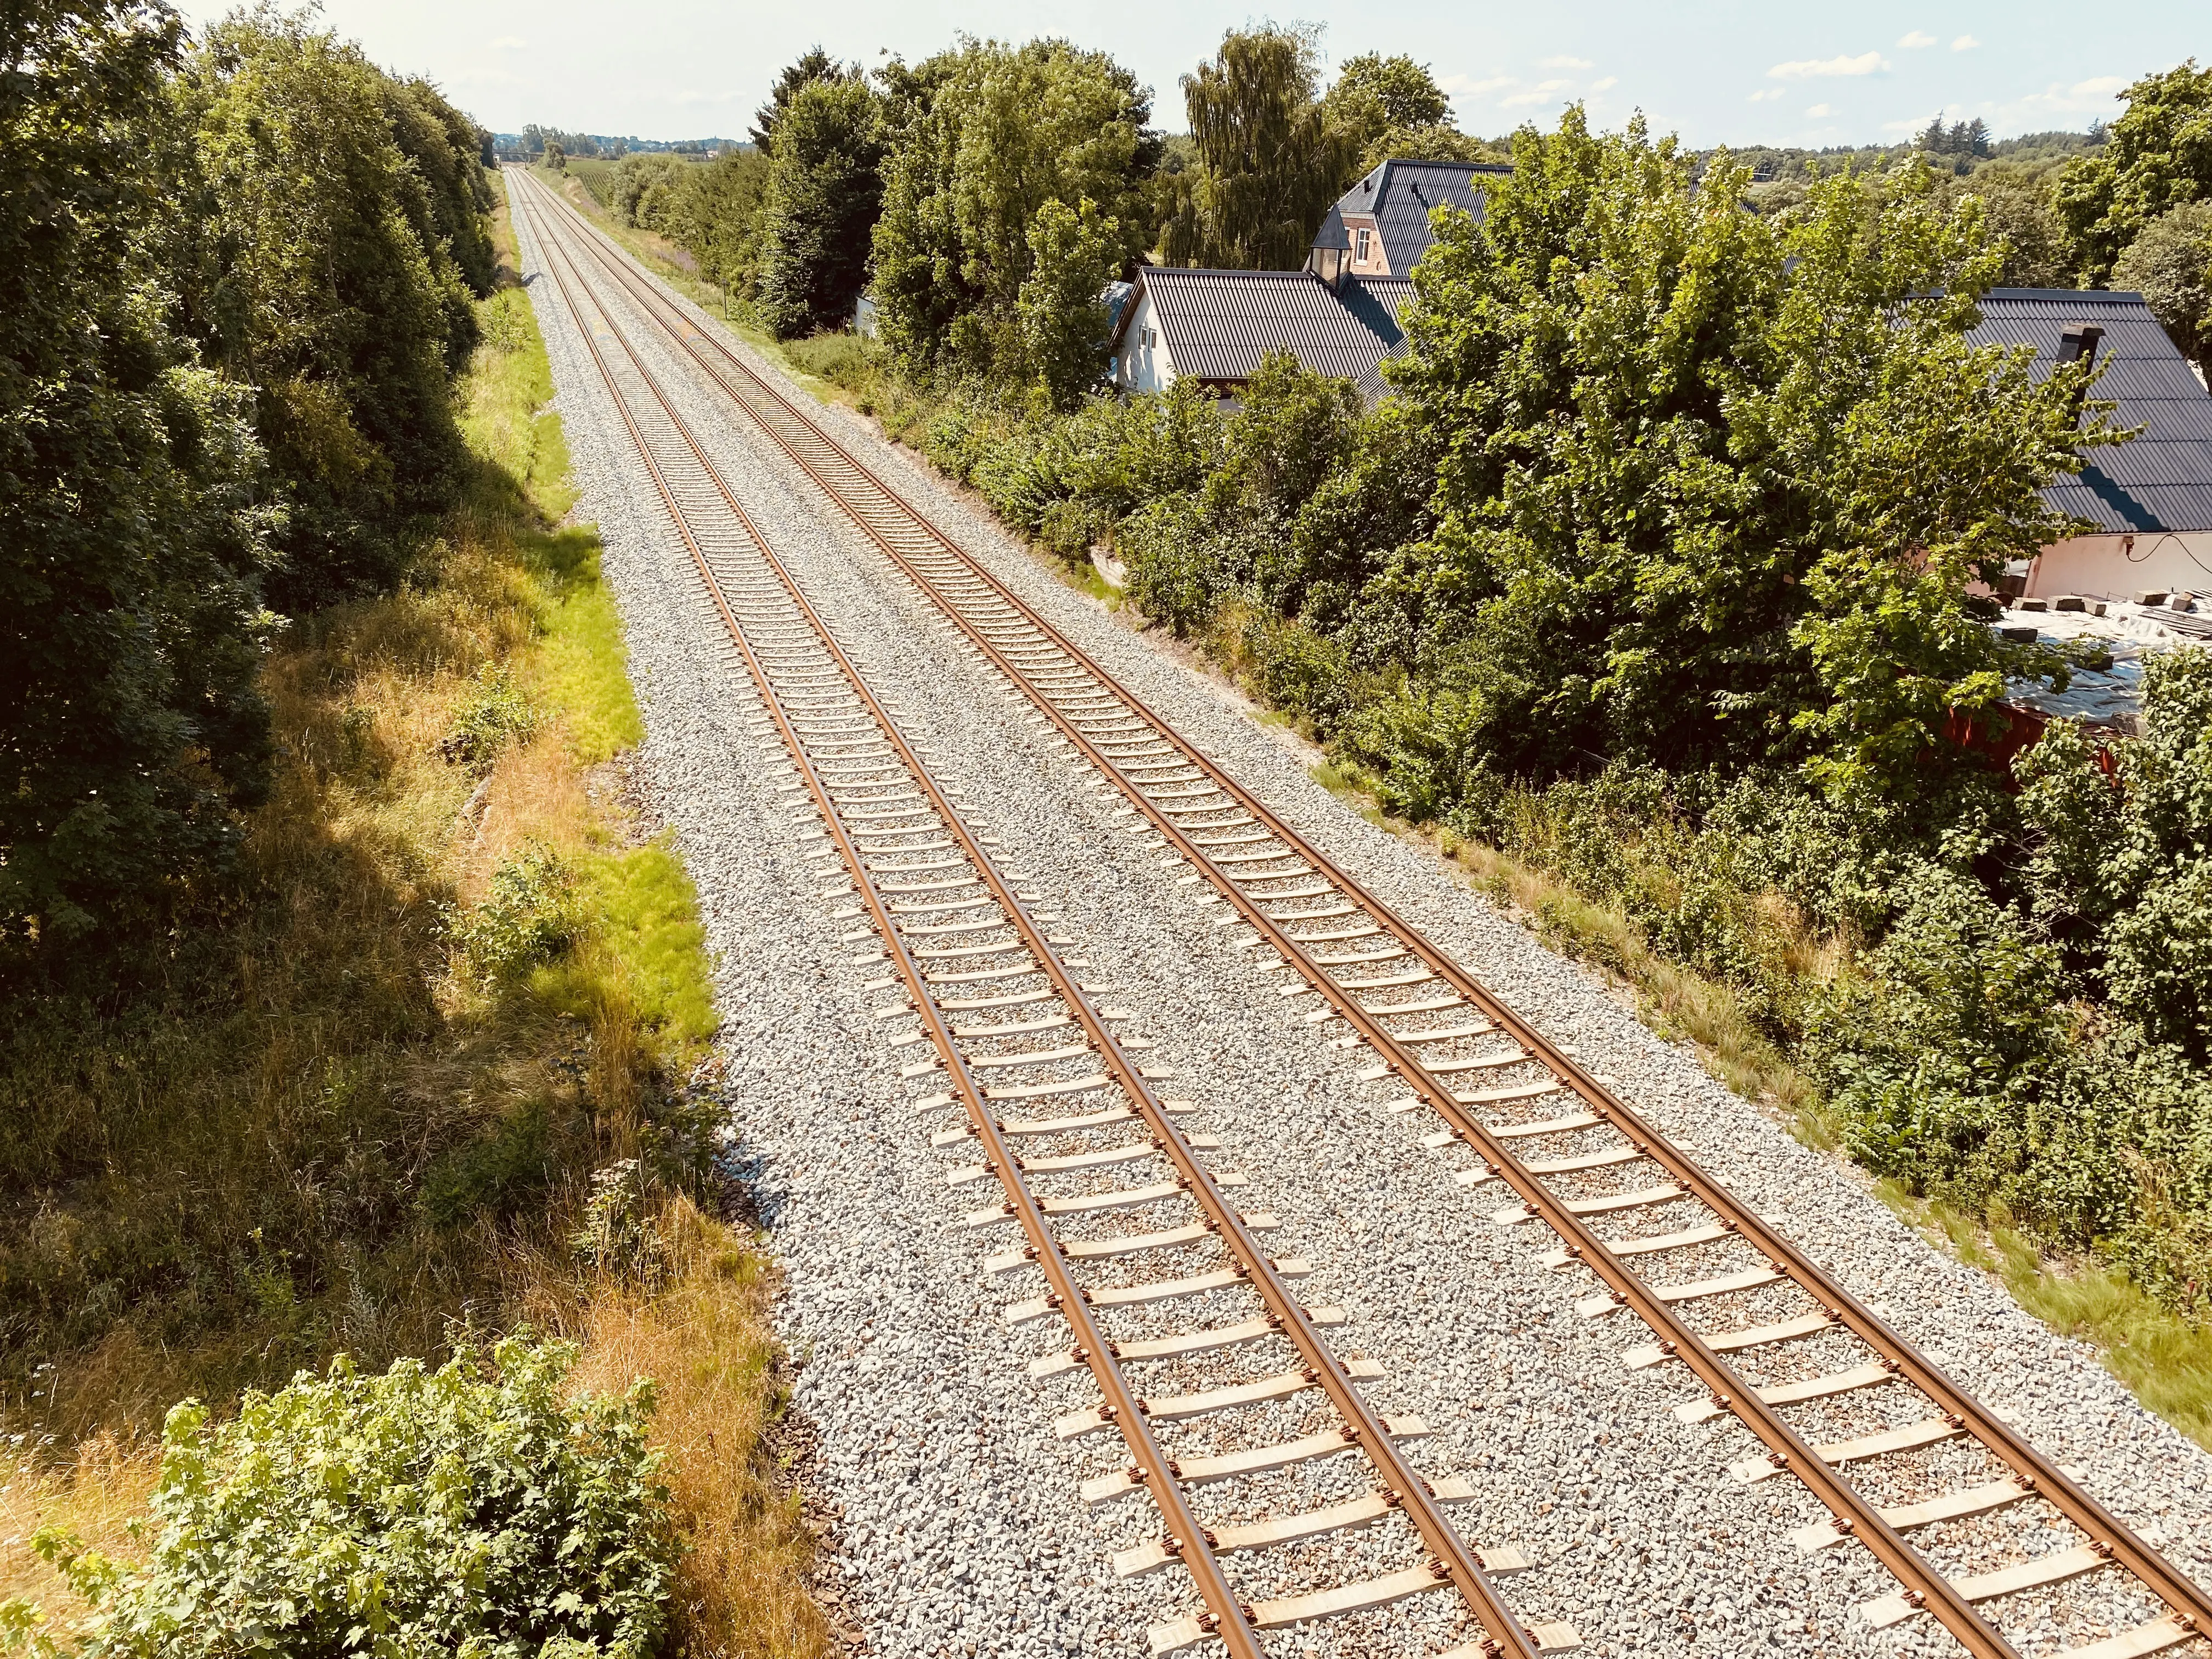
[[[296,15],[0,18],[0,967],[219,869],[257,672],[462,482],[487,135]]]

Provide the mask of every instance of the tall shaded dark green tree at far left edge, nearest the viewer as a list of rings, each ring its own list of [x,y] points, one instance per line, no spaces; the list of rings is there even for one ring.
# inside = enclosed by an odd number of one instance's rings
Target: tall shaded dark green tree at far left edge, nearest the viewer
[[[0,962],[144,914],[265,787],[270,513],[170,332],[173,11],[0,13]]]

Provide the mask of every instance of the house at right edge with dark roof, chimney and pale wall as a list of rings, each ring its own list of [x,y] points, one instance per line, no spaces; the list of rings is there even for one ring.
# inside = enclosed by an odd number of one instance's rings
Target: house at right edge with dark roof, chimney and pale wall
[[[2081,356],[2104,365],[2090,396],[2110,398],[2124,445],[2090,449],[2044,498],[2093,524],[2046,546],[2015,575],[2024,597],[2137,591],[2212,593],[2212,394],[2141,294],[1993,288],[1975,345],[2033,345],[2035,376]]]

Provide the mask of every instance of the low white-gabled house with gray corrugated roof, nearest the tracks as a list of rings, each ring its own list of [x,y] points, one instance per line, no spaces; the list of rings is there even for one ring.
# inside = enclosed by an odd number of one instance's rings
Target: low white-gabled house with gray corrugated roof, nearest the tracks
[[[1358,279],[1332,285],[1310,270],[1146,265],[1115,319],[1113,380],[1126,392],[1177,380],[1234,392],[1267,352],[1290,352],[1374,403],[1385,392],[1376,365],[1405,341],[1396,303]]]

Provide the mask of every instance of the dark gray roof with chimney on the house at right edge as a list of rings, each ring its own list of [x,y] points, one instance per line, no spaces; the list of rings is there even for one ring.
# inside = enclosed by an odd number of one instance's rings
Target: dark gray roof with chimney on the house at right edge
[[[2081,473],[2055,482],[2046,500],[2106,531],[2212,529],[2212,394],[2141,294],[1993,288],[1982,296],[1982,325],[1966,338],[2033,345],[2042,380],[2057,365],[2059,334],[2075,323],[2104,330],[2104,378],[2090,396],[2117,403],[2112,422],[2143,434],[2086,451]]]

